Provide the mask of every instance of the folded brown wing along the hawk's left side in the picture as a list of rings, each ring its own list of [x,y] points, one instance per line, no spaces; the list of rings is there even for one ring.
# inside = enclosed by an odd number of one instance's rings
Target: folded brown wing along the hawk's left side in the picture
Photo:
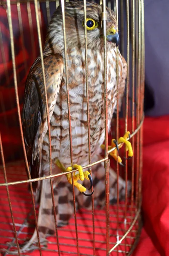
[[[63,58],[60,55],[44,56],[49,119],[52,117],[59,93],[63,66]],[[26,80],[22,124],[31,176],[38,177],[41,147],[48,130],[40,57],[32,65]]]

